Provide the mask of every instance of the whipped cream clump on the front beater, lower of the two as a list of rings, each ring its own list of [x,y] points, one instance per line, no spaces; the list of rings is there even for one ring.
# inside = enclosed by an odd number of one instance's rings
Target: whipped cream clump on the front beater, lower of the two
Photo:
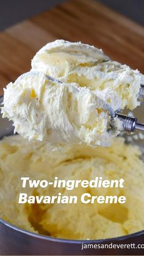
[[[110,128],[107,103],[78,84],[52,82],[43,73],[26,73],[4,89],[3,117],[30,140],[52,148],[68,143],[109,145],[118,131]],[[114,120],[115,125],[120,122]]]

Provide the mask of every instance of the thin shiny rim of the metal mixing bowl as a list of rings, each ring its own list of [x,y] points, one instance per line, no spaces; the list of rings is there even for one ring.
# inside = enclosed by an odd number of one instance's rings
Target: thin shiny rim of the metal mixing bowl
[[[4,95],[0,95],[0,104],[2,103],[2,99],[4,98]],[[106,238],[106,239],[99,239],[99,240],[69,240],[69,239],[63,239],[63,238],[55,238],[53,236],[46,236],[46,235],[40,235],[38,233],[30,232],[28,230],[21,229],[20,227],[17,227],[16,225],[10,224],[9,222],[5,221],[4,219],[0,218],[0,224],[5,225],[6,227],[15,230],[16,232],[20,232],[22,234],[32,236],[33,238],[38,238],[40,240],[46,240],[46,241],[52,241],[56,243],[70,243],[70,244],[99,244],[99,243],[112,243],[112,242],[119,242],[123,240],[128,240],[130,238],[135,238],[140,235],[144,235],[144,230],[140,230],[135,233],[131,233],[129,235],[124,236],[117,236],[113,238]]]

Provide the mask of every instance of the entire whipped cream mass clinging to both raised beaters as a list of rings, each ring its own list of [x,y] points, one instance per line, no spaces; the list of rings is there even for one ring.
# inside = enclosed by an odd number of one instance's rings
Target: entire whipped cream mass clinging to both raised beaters
[[[110,114],[139,105],[143,83],[138,70],[110,60],[94,46],[56,40],[34,56],[31,72],[4,89],[2,113],[23,137],[45,140],[52,148],[82,142],[108,146],[123,130]]]

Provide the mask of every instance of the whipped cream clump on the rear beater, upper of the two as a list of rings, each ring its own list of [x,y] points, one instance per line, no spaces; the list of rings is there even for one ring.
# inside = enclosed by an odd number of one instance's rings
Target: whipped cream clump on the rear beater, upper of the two
[[[144,76],[138,70],[110,60],[94,46],[64,40],[48,43],[32,59],[32,70],[88,87],[115,110],[125,106],[134,109],[140,104],[137,95]],[[121,103],[115,99],[118,96]]]

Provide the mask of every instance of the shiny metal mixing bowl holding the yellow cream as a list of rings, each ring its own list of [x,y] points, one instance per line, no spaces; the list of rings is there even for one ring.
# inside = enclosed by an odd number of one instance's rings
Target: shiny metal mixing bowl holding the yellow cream
[[[3,97],[0,97],[0,104]],[[139,122],[144,122],[144,103],[134,112]],[[0,115],[0,138],[13,134],[12,122],[2,119]],[[143,141],[137,144],[144,145]],[[106,240],[63,240],[50,236],[37,235],[32,232],[20,229],[0,218],[0,255],[143,255],[144,230],[131,235],[110,238]],[[83,244],[90,244],[88,249],[82,250]],[[106,249],[95,249],[94,245],[109,245]],[[117,244],[117,249],[112,248]],[[135,249],[120,246],[124,244],[135,244]],[[143,248],[136,248],[143,244]]]

